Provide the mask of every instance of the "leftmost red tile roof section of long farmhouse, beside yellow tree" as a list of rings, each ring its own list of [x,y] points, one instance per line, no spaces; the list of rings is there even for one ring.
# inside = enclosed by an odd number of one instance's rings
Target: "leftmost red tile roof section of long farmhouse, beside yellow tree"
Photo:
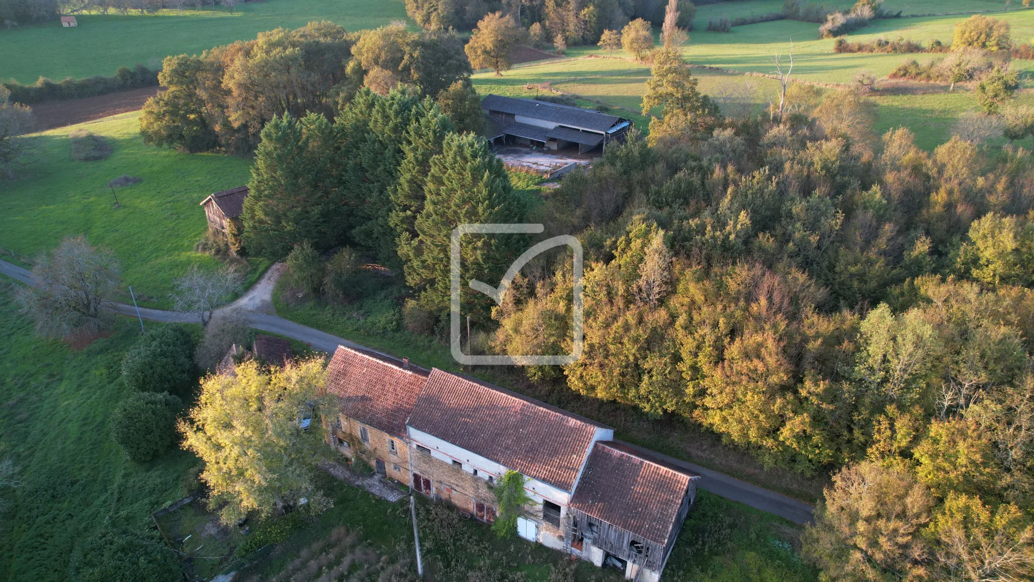
[[[343,414],[390,435],[405,436],[405,419],[427,381],[427,370],[338,346],[327,371],[327,391],[338,396]]]

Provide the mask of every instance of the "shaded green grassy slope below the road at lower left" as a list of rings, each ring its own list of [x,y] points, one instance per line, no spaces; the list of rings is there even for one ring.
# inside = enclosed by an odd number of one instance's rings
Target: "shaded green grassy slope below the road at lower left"
[[[138,465],[108,436],[128,395],[120,361],[139,333],[120,318],[111,338],[72,352],[33,337],[0,283],[0,439],[23,481],[0,526],[0,580],[67,580],[75,549],[104,523],[146,530],[152,512],[183,495],[192,456]]]

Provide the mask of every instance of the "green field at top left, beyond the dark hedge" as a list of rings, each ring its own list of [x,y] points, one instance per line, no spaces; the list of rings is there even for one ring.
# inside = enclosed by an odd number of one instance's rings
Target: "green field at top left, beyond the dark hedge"
[[[263,0],[223,7],[160,10],[154,14],[77,16],[77,28],[57,21],[0,29],[0,80],[34,83],[40,76],[113,75],[119,66],[160,64],[169,55],[201,54],[206,49],[254,38],[264,30],[297,28],[329,20],[349,31],[405,19],[402,0]]]

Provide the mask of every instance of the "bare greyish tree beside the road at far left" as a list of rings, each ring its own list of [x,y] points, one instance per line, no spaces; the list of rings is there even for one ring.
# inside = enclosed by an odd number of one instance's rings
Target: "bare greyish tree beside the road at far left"
[[[95,333],[111,321],[111,297],[119,287],[115,255],[85,236],[67,237],[32,267],[36,287],[19,290],[19,301],[36,321],[36,331],[60,338]]]

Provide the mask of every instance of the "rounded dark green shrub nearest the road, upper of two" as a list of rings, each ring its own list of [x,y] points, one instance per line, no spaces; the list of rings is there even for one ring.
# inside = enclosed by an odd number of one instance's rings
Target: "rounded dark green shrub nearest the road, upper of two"
[[[126,385],[144,392],[180,392],[193,380],[193,340],[178,325],[152,327],[122,360]]]

